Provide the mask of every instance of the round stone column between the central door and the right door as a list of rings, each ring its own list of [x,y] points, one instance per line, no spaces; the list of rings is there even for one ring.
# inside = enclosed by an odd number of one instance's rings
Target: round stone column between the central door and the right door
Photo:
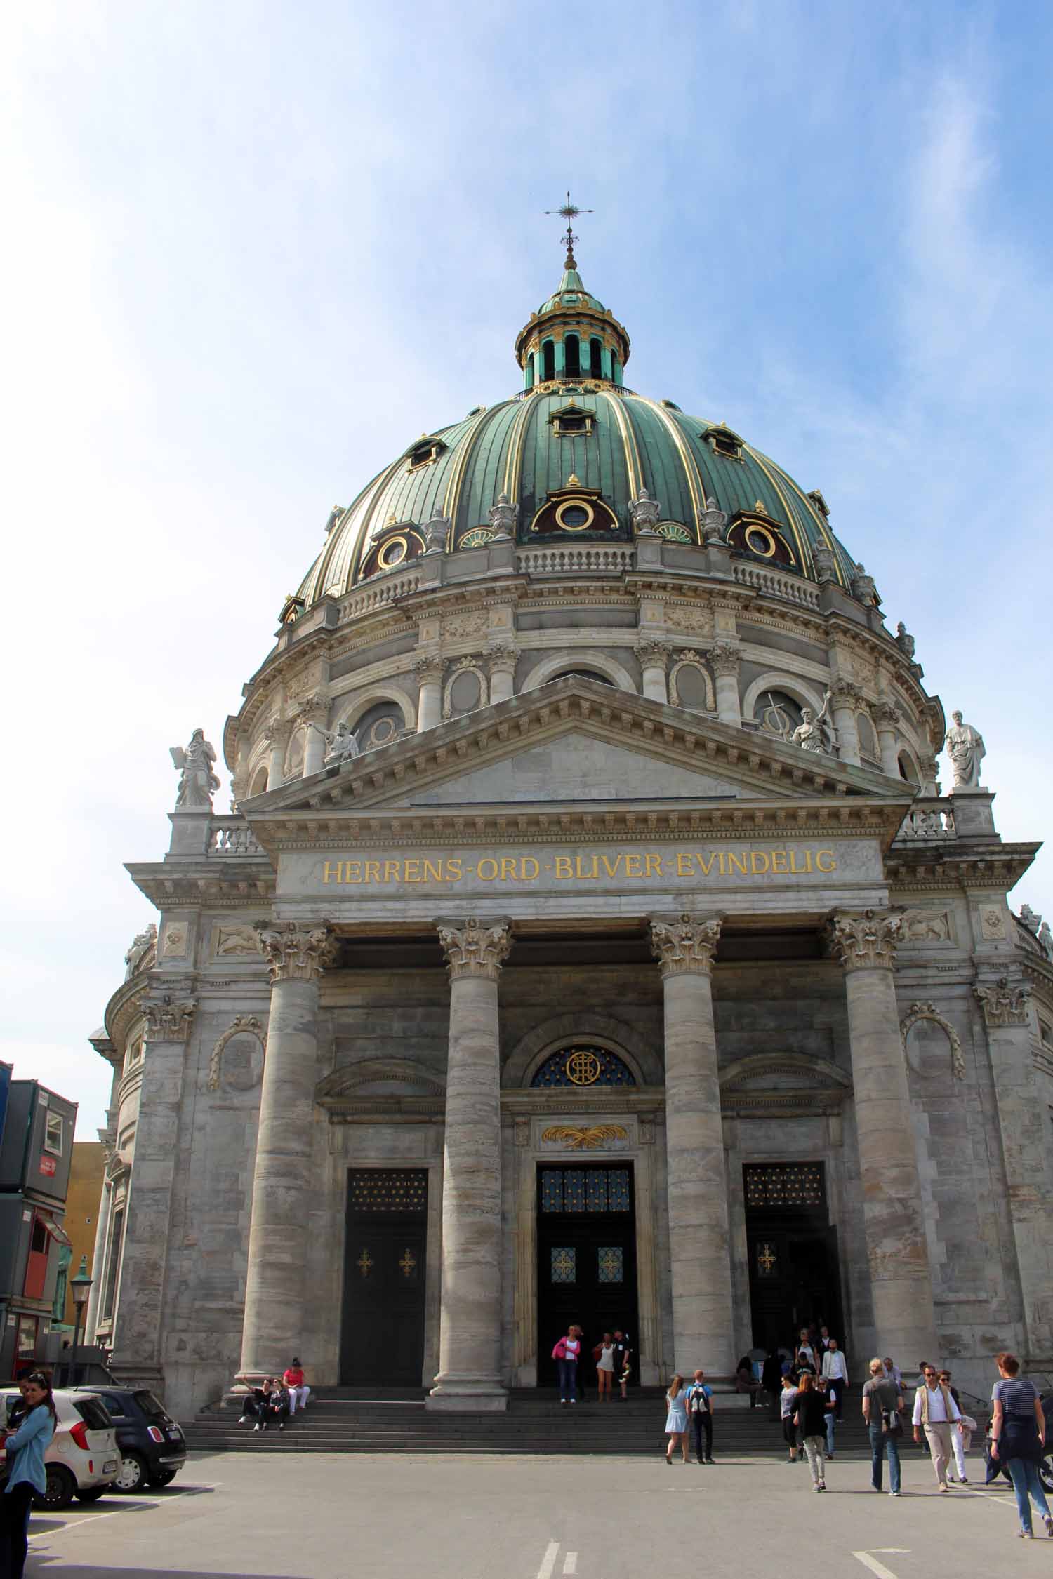
[[[652,919],[665,990],[673,1364],[734,1371],[728,1184],[710,976],[718,916]]]

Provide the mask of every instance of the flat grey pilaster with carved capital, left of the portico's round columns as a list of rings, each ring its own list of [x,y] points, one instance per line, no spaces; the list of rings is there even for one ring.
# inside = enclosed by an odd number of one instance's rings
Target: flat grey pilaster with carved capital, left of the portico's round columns
[[[142,1090],[114,1320],[114,1371],[126,1380],[159,1382],[183,1067],[196,1004],[156,993],[145,998],[141,1007],[147,1022]]]

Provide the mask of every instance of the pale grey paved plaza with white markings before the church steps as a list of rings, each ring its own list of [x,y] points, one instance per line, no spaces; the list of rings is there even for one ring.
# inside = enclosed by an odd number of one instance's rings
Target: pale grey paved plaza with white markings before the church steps
[[[35,1519],[27,1579],[960,1579],[1053,1562],[1042,1533],[1015,1540],[1012,1494],[984,1487],[979,1457],[979,1481],[939,1497],[908,1448],[894,1500],[860,1457],[829,1465],[823,1497],[805,1465],[658,1453],[200,1457],[167,1492]]]

